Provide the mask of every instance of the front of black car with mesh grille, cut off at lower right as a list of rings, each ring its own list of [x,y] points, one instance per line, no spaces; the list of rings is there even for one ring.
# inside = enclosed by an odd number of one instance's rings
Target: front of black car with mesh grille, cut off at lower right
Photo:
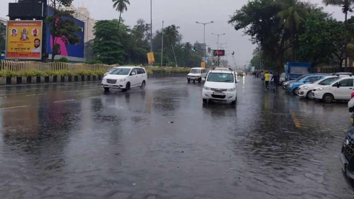
[[[354,127],[349,129],[344,139],[340,161],[342,174],[348,186],[354,191]]]

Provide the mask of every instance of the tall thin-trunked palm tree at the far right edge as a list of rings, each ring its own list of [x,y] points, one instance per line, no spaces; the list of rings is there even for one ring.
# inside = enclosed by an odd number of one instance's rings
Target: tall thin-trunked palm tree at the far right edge
[[[322,0],[322,3],[324,3],[326,6],[332,5],[332,6],[340,6],[342,7],[342,12],[345,15],[345,20],[344,20],[344,37],[345,37],[345,45],[344,45],[344,70],[347,71],[348,67],[348,48],[347,45],[349,43],[348,41],[348,12],[353,12],[353,5],[354,5],[354,0]]]

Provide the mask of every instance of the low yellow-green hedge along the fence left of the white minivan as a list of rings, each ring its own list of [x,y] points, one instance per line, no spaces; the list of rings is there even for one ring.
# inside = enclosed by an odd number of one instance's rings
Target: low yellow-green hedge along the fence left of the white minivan
[[[0,77],[28,77],[28,76],[81,76],[81,75],[103,75],[105,70],[22,70],[14,72],[11,70],[0,70]]]

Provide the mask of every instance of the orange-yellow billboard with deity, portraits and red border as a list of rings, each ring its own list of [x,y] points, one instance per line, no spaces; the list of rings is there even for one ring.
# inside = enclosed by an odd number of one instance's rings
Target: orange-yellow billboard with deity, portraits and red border
[[[42,25],[42,21],[8,21],[5,59],[41,59]]]

